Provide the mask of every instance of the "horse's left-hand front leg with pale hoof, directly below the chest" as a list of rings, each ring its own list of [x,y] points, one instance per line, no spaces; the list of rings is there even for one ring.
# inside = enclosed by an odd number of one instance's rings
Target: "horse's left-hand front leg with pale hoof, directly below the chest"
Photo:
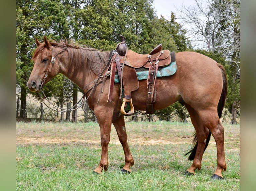
[[[106,109],[106,111],[107,110],[108,109]],[[110,141],[112,116],[110,116],[109,113],[104,113],[104,109],[99,109],[99,112],[97,112],[97,110],[94,111],[101,131],[101,160],[94,172],[101,174],[102,170],[108,170],[108,144]]]

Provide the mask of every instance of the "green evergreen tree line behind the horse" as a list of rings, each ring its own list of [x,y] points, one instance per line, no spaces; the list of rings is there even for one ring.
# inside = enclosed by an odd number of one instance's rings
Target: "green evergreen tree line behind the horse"
[[[224,65],[229,83],[227,112],[224,114],[236,123],[236,117],[240,115],[240,1],[209,1],[205,9],[209,19],[202,28],[202,35],[211,37],[215,44],[204,50],[193,48],[194,41],[189,40],[191,36],[188,38],[191,31],[177,22],[175,13],[171,12],[169,19],[158,18],[152,3],[153,0],[17,0],[16,97],[20,99],[20,106],[16,117],[27,117],[27,96],[31,93],[26,82],[33,67],[31,58],[36,48],[35,38],[39,41],[43,36],[56,41],[67,38],[73,43],[107,51],[116,47],[122,34],[128,48],[140,54],[148,54],[162,43],[164,49],[200,52]],[[226,9],[220,5],[225,5]],[[227,7],[229,11],[226,11]],[[216,15],[219,17],[214,17]],[[218,25],[214,21],[219,21]],[[215,36],[211,36],[214,30]],[[227,41],[221,43],[219,36],[224,36]],[[231,49],[235,45],[238,49]],[[62,75],[45,86],[46,95],[54,98],[53,101],[61,107],[68,102],[76,102],[77,91],[76,85]],[[91,114],[87,116],[89,120],[95,120]],[[185,122],[188,113],[175,103],[156,111],[155,116],[161,120]],[[64,120],[63,116],[61,120]],[[76,113],[73,113],[72,121],[76,120]]]

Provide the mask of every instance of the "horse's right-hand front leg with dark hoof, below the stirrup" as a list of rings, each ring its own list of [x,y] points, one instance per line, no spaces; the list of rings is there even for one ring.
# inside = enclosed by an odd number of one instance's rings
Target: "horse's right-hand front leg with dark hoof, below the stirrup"
[[[126,173],[130,173],[131,169],[130,166],[133,166],[134,164],[134,160],[130,151],[130,148],[128,146],[128,142],[127,142],[127,134],[126,134],[126,129],[125,129],[125,122],[124,122],[124,116],[121,115],[116,119],[112,120],[112,123],[114,124],[115,128],[116,128],[116,132],[119,138],[120,143],[123,146],[124,149],[124,156],[125,156],[125,165],[122,169],[122,172]]]

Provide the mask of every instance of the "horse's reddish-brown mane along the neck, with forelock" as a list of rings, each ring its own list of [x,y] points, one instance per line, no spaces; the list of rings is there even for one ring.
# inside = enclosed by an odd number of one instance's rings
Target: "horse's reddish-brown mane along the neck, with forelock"
[[[49,43],[55,48],[60,48],[58,52],[53,52],[53,55],[57,58],[60,58],[65,51],[68,52],[69,62],[73,63],[73,66],[75,65],[74,75],[77,74],[76,71],[82,70],[84,73],[93,72],[99,76],[109,59],[109,51],[102,52],[94,48],[85,48],[84,46],[68,44],[67,39],[60,40],[59,43],[49,40]],[[46,48],[45,43],[40,44],[35,50],[32,59],[41,53],[44,48]],[[72,65],[70,65],[70,67],[71,66]]]

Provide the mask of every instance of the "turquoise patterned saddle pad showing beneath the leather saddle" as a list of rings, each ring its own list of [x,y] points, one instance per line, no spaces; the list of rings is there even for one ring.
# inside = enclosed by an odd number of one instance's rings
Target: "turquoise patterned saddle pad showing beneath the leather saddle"
[[[171,62],[171,64],[166,67],[158,68],[156,77],[160,78],[165,76],[171,76],[175,74],[176,69],[177,69],[176,62]],[[136,74],[137,74],[138,80],[146,80],[148,77],[148,70],[139,71],[139,72],[136,72]],[[115,83],[119,83],[118,74],[115,75]]]

